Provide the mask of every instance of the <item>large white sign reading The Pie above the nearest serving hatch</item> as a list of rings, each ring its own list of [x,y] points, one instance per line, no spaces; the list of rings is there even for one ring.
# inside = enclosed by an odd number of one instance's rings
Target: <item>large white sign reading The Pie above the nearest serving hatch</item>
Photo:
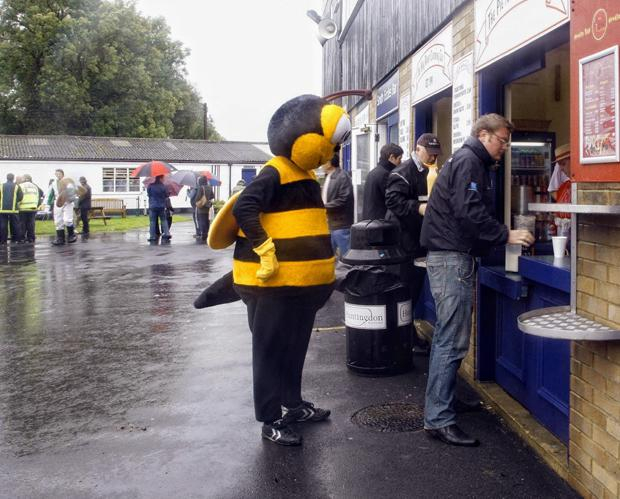
[[[570,20],[571,0],[475,0],[476,71]]]

